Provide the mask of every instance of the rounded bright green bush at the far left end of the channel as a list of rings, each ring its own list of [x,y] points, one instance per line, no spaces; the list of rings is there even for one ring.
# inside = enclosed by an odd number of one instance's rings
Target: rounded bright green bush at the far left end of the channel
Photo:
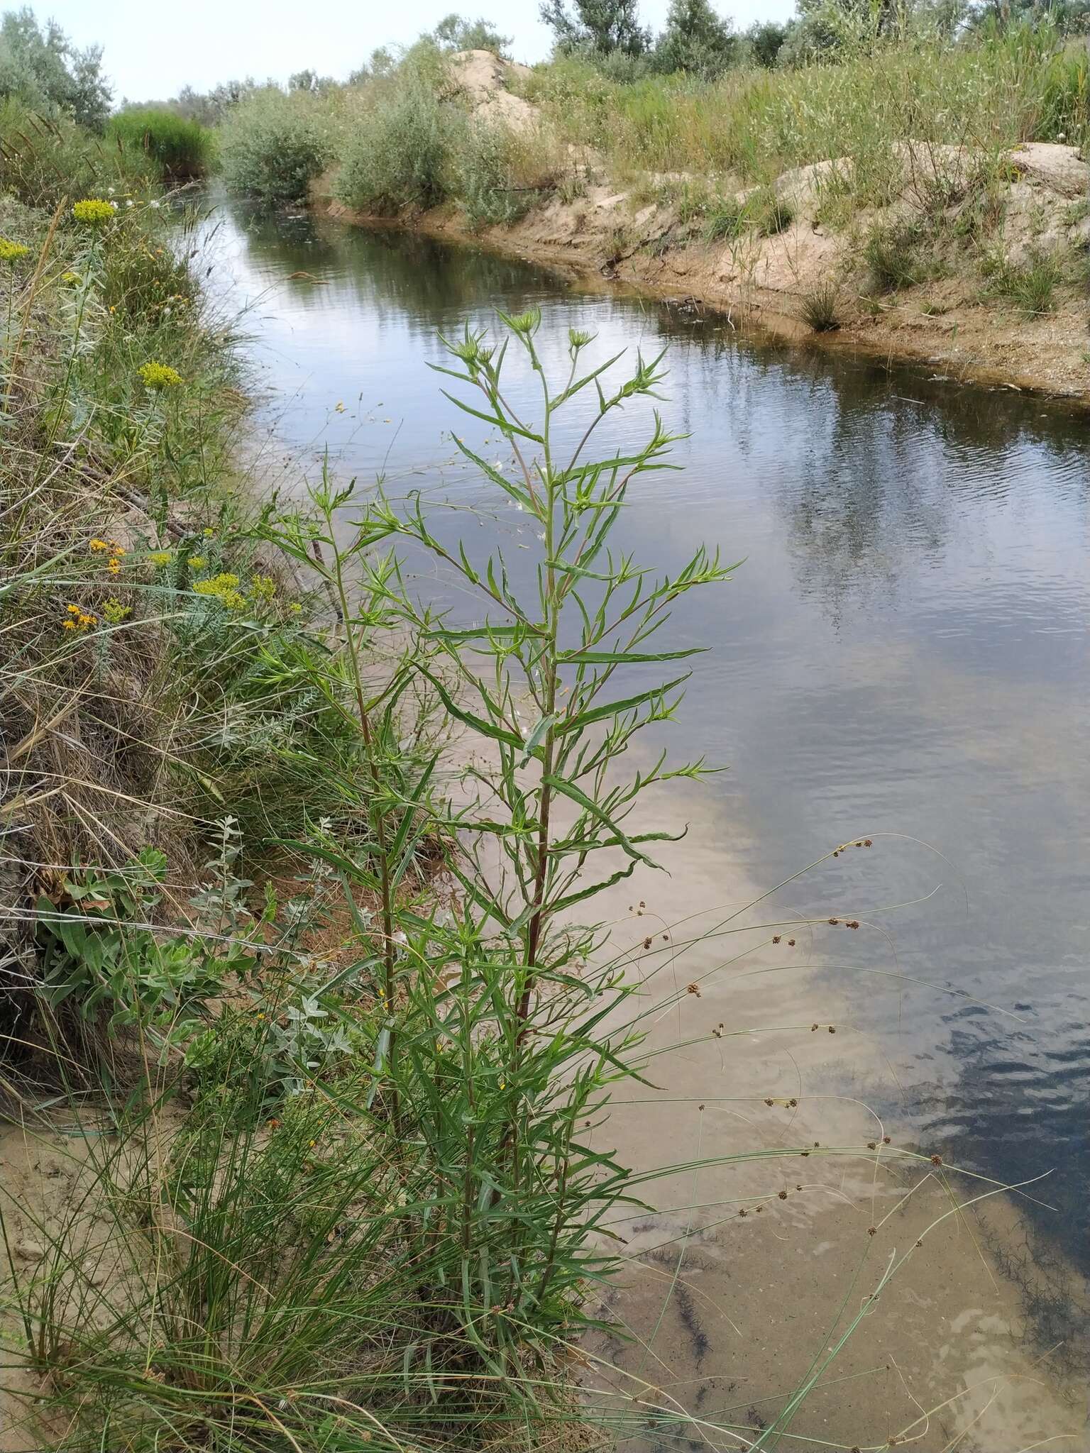
[[[228,190],[298,202],[333,160],[328,118],[304,92],[256,92],[231,110],[219,142]]]

